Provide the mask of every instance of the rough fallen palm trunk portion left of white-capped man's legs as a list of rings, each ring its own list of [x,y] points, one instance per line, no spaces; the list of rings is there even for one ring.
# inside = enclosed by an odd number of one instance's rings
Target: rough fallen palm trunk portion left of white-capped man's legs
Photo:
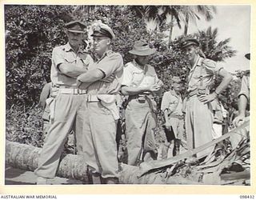
[[[6,165],[22,170],[34,171],[42,148],[6,140]],[[81,155],[62,155],[57,176],[88,182],[86,162]]]

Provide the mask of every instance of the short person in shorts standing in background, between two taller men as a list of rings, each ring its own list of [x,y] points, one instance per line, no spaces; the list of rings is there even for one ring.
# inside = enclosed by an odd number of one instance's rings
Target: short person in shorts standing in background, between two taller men
[[[184,115],[182,114],[182,80],[174,76],[170,82],[171,90],[163,94],[161,104],[161,110],[164,113],[166,121],[164,130],[167,141],[167,144],[162,149],[162,158],[170,158],[179,154],[185,132]]]

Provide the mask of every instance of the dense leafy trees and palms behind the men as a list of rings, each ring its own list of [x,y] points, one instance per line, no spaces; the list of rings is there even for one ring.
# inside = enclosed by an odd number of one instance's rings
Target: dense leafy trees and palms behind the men
[[[50,82],[51,51],[66,43],[63,26],[71,20],[81,20],[88,26],[101,20],[109,24],[117,39],[113,49],[122,54],[124,62],[132,60],[128,53],[134,41],[144,38],[157,48],[151,65],[170,86],[170,76],[181,76],[184,84],[188,74],[187,63],[180,50],[182,38],[194,37],[202,44],[206,58],[216,62],[234,56],[230,38],[217,41],[217,29],[206,27],[187,35],[189,22],[214,18],[214,6],[5,6],[6,33],[6,138],[11,141],[42,145],[42,108],[37,106],[42,86]],[[147,30],[147,22],[155,29]],[[184,22],[185,26],[182,27]],[[184,34],[172,39],[172,29],[178,26]],[[88,52],[91,42],[88,35]],[[240,76],[241,74],[238,74]],[[216,83],[218,83],[218,77]],[[223,92],[226,108],[235,105],[240,79]]]

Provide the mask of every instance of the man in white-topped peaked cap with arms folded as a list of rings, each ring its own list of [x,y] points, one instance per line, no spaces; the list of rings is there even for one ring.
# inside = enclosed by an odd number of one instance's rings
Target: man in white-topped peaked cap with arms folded
[[[94,50],[98,61],[77,78],[79,88],[88,98],[80,110],[83,118],[82,154],[88,163],[88,175],[102,183],[118,183],[118,153],[115,142],[119,118],[116,94],[121,87],[123,61],[121,54],[110,50],[113,30],[102,23],[93,25]],[[86,109],[84,109],[86,108]]]

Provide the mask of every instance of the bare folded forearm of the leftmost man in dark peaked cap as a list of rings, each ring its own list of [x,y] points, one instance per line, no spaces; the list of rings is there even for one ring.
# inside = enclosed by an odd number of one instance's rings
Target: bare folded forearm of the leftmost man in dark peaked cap
[[[86,68],[82,68],[70,63],[62,63],[59,65],[59,70],[66,76],[77,78],[80,74],[85,73]]]

